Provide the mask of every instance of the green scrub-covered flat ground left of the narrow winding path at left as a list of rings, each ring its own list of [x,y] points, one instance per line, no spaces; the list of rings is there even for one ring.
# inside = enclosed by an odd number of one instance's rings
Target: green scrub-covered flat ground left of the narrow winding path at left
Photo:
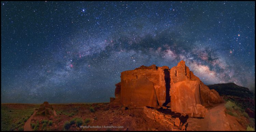
[[[33,113],[34,108],[40,105],[15,105],[1,104],[1,131],[17,131],[22,130],[24,122],[28,120]]]

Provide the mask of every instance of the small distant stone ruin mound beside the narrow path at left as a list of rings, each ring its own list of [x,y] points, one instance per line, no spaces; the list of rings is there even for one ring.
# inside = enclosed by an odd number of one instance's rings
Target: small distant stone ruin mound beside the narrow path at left
[[[40,105],[35,115],[54,115],[52,105],[49,105],[49,103],[45,101],[42,105]]]

